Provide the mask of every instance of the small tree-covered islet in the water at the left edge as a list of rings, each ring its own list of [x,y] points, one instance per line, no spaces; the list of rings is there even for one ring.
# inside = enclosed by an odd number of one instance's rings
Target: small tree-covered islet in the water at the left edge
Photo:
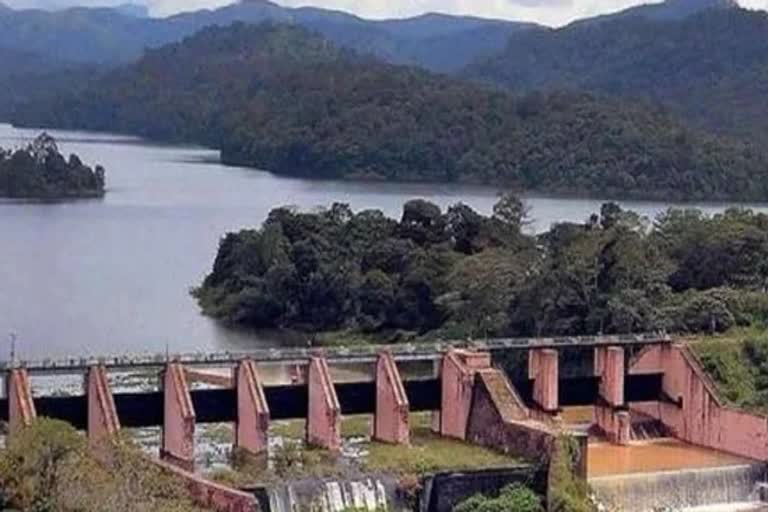
[[[92,169],[77,155],[59,153],[53,137],[43,133],[25,148],[0,148],[0,197],[75,199],[104,195],[105,172]]]

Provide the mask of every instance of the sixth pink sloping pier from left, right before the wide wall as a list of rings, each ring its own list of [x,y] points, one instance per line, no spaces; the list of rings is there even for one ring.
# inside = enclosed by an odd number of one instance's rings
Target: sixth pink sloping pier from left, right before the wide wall
[[[373,438],[394,444],[408,444],[410,406],[400,372],[391,352],[382,352],[376,361],[376,414]]]

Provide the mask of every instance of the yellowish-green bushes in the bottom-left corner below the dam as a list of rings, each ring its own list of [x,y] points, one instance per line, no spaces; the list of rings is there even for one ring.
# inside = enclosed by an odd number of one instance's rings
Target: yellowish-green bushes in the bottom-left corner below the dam
[[[96,460],[70,425],[38,419],[0,450],[0,508],[35,512],[196,512],[186,489],[128,441]]]

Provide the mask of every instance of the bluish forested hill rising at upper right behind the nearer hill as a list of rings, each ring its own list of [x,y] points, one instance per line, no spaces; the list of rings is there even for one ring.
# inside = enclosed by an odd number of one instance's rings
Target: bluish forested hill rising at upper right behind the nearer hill
[[[465,76],[513,90],[567,86],[649,98],[716,133],[768,143],[768,13],[616,16],[513,35]]]

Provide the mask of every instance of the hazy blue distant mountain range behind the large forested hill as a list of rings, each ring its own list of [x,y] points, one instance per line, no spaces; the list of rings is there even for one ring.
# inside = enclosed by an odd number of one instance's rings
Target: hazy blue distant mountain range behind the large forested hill
[[[167,18],[140,14],[130,6],[60,11],[0,7],[0,47],[68,64],[117,65],[137,60],[145,48],[178,42],[205,27],[271,21],[318,31],[340,46],[389,62],[448,72],[501,50],[511,34],[535,26],[442,14],[367,20],[341,11],[289,8],[267,0],[240,0]]]

